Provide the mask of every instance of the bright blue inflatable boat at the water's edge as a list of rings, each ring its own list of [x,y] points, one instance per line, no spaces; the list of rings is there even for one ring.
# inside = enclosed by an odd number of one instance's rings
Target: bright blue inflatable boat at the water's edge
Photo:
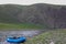
[[[21,37],[8,37],[7,42],[9,43],[24,43],[26,41],[26,37],[21,36]]]

